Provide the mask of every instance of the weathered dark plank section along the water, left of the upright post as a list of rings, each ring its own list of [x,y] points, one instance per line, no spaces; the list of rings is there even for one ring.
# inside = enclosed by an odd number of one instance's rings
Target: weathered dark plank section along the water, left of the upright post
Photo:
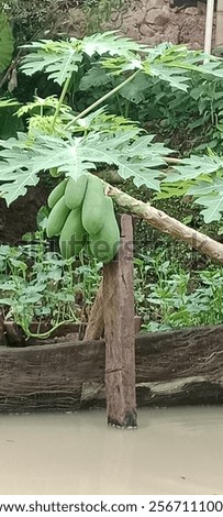
[[[0,351],[0,413],[73,411],[85,383],[104,381],[103,341]]]

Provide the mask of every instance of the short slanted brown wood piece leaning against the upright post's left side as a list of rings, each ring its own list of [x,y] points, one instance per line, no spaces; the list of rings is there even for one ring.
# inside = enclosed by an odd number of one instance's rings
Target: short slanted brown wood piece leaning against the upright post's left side
[[[87,329],[85,332],[85,341],[100,339],[103,334],[103,279],[100,283],[94,304],[90,311]]]

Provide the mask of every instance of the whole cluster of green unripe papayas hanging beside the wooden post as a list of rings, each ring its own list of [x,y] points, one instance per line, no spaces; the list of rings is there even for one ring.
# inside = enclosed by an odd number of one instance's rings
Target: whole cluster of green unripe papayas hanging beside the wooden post
[[[120,230],[113,201],[104,195],[101,179],[92,174],[77,180],[63,179],[49,194],[48,207],[46,232],[48,238],[59,235],[65,258],[77,256],[86,248],[98,261],[112,261],[119,249]]]

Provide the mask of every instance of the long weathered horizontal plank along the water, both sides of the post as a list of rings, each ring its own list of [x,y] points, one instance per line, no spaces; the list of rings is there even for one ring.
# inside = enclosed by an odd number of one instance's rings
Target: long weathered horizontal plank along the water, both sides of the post
[[[223,404],[223,326],[136,337],[138,407]],[[105,344],[0,348],[0,414],[104,407]]]

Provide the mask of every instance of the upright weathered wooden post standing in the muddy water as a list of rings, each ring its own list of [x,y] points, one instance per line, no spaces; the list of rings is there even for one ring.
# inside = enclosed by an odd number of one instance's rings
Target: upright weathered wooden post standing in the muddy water
[[[137,427],[132,217],[121,217],[118,256],[103,270],[108,424]]]

